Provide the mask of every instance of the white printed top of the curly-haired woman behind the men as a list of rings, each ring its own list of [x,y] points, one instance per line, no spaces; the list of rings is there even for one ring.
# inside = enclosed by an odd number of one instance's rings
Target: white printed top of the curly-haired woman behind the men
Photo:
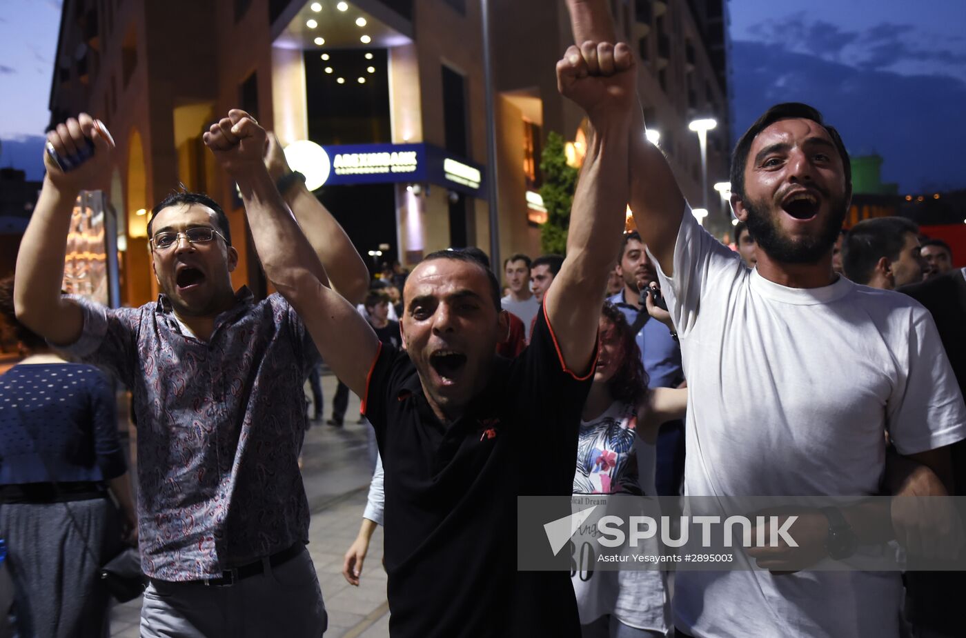
[[[599,417],[581,421],[574,492],[653,496],[657,448],[638,436],[633,405],[613,402]],[[639,629],[668,631],[668,588],[657,569],[582,569],[571,577],[582,624],[611,614]]]

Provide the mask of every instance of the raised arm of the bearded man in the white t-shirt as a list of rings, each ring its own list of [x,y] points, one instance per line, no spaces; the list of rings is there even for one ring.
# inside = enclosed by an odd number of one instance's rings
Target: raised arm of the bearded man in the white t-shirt
[[[574,42],[613,42],[610,3],[607,0],[567,0]],[[644,135],[644,117],[637,98],[630,128],[630,206],[640,236],[668,276],[677,231],[684,214],[684,197],[668,159]]]

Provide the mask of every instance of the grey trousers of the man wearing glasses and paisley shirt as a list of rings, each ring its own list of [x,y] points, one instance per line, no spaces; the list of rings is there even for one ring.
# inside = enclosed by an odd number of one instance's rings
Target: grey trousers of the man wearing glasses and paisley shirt
[[[319,638],[328,616],[308,551],[228,587],[152,581],[141,638]]]

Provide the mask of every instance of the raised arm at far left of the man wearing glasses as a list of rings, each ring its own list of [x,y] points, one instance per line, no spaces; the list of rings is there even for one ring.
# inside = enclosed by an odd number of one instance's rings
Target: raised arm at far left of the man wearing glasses
[[[94,143],[94,155],[67,173],[49,154],[43,154],[47,174],[43,178],[41,197],[16,256],[16,317],[54,344],[72,344],[80,338],[83,329],[80,308],[61,296],[67,236],[77,193],[82,188],[96,188],[103,180],[114,140],[99,121],[86,113],[47,133],[47,148],[65,158],[86,153],[87,139]]]

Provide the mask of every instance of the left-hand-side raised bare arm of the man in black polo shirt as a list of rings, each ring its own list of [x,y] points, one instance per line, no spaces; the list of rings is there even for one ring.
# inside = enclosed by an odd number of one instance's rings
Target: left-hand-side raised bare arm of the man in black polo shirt
[[[319,255],[262,161],[265,129],[244,111],[233,109],[228,116],[205,133],[205,144],[239,185],[266,277],[296,309],[332,371],[353,392],[365,396],[366,374],[379,347],[376,333],[353,304],[327,287]]]

